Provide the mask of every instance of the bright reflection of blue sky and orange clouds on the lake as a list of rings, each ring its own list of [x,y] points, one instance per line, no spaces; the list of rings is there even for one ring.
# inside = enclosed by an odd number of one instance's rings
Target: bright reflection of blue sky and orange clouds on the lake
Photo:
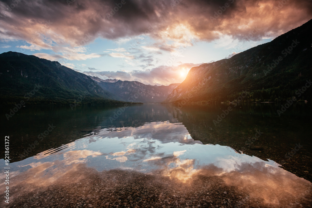
[[[91,172],[114,169],[169,177],[189,183],[198,176],[222,179],[228,186],[281,206],[311,196],[311,183],[287,172],[272,160],[240,154],[228,146],[194,141],[182,123],[148,122],[139,127],[106,128],[11,164],[12,186],[75,183],[81,164]],[[79,178],[79,177],[78,177]],[[32,189],[28,190],[32,191]],[[287,196],[285,198],[285,196]],[[14,196],[12,196],[14,199]]]

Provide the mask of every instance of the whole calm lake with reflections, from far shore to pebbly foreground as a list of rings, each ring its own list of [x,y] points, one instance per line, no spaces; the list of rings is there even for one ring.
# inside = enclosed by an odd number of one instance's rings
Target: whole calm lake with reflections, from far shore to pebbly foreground
[[[9,120],[3,109],[10,202],[60,206],[67,196],[72,207],[308,206],[311,105],[295,103],[279,116],[281,105],[23,107]],[[139,193],[126,191],[134,184]]]

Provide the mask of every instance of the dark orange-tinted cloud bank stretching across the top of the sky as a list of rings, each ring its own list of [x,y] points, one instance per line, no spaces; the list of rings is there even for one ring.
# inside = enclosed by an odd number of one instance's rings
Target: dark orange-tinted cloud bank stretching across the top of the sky
[[[222,35],[260,40],[278,36],[312,17],[312,2],[306,0],[125,0],[123,5],[108,0],[16,2],[12,9],[12,1],[0,2],[0,38],[26,40],[53,51],[65,45],[84,46],[96,37],[126,41],[142,34],[164,41],[164,46],[167,41],[187,44],[192,39],[211,41]],[[163,47],[166,49],[171,50]]]

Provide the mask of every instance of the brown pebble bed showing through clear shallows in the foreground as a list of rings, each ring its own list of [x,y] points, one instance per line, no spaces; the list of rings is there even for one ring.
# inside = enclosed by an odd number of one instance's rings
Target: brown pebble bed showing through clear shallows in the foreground
[[[27,175],[28,174],[28,175]],[[18,177],[18,176],[17,176]],[[183,183],[161,174],[111,170],[98,172],[84,164],[52,179],[12,178],[10,204],[0,207],[311,207],[311,188],[298,198],[285,192],[276,205],[247,189],[227,185],[226,178],[200,173]],[[30,181],[29,183],[27,181]],[[11,183],[11,182],[10,182]],[[1,196],[3,198],[3,194]],[[281,200],[283,199],[283,200]]]

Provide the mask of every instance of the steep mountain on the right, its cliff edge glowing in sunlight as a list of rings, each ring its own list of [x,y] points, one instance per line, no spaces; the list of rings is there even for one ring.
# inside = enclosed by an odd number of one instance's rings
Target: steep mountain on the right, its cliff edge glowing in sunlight
[[[271,42],[193,67],[165,102],[312,100],[312,20]],[[310,84],[309,84],[310,83]],[[300,91],[300,90],[301,91]],[[306,90],[306,91],[305,91]]]

